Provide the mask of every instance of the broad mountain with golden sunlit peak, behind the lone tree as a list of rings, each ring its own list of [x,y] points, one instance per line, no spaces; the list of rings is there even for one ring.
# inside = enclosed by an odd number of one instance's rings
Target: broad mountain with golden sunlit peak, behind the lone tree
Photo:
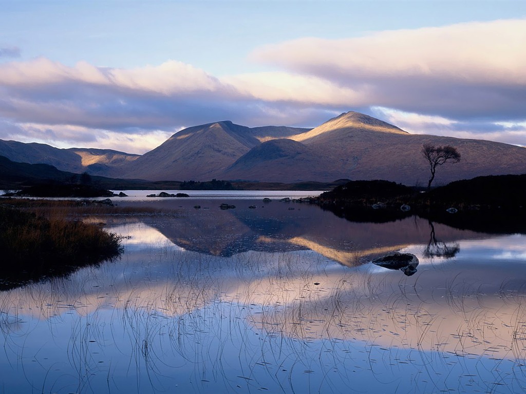
[[[451,145],[461,154],[459,163],[446,163],[437,169],[435,185],[479,175],[526,173],[525,148],[483,140],[409,134],[358,112],[342,113],[310,131],[291,136],[290,140],[302,144],[305,154],[289,155],[287,160],[263,158],[258,152],[261,148],[255,147],[232,164],[224,178],[267,181],[276,180],[280,174],[281,182],[348,178],[425,185],[429,164],[420,152],[424,143]],[[306,152],[313,152],[308,159]]]

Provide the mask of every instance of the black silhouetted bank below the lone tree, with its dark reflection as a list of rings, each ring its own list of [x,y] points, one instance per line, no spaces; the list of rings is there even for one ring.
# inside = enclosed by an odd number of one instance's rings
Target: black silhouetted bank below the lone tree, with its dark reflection
[[[490,233],[526,232],[526,174],[451,182],[426,191],[388,181],[350,181],[314,202],[355,222],[388,222],[417,214]],[[409,206],[408,211],[401,209]],[[454,210],[448,209],[454,208]]]

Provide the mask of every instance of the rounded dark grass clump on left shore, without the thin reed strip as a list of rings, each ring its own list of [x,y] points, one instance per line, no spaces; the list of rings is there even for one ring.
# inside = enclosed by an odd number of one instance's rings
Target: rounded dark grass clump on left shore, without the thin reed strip
[[[0,204],[0,290],[68,275],[121,252],[119,237],[97,224],[69,219],[56,208],[44,215],[28,209],[29,202],[11,202]]]

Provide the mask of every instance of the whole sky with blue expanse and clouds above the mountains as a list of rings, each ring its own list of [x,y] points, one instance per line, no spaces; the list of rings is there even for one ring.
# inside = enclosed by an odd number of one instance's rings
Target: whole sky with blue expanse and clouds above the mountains
[[[144,153],[221,120],[526,146],[526,1],[2,1],[0,139]]]

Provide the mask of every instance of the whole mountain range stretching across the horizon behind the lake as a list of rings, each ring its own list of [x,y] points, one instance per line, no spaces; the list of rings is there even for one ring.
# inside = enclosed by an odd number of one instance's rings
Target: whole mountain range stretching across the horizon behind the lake
[[[0,155],[68,172],[148,181],[331,182],[385,179],[425,185],[425,143],[450,145],[459,163],[437,169],[435,184],[480,175],[526,173],[526,149],[500,142],[410,134],[359,112],[342,113],[313,129],[249,128],[231,121],[181,130],[143,154],[105,149],[58,149],[0,140]]]

